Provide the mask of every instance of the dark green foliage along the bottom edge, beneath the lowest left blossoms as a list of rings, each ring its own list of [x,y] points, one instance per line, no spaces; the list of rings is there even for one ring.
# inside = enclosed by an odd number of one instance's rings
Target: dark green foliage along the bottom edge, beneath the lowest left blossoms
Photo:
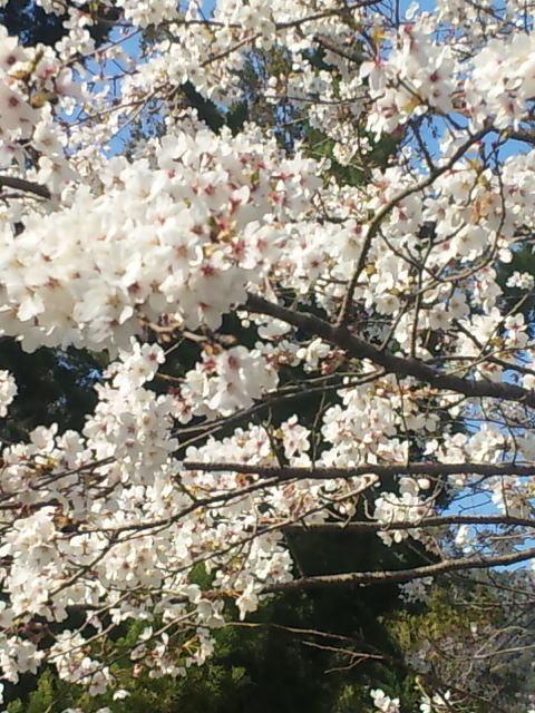
[[[331,616],[337,612],[331,602]],[[325,606],[323,602],[322,606]],[[113,700],[113,693],[90,699],[78,685],[59,682],[50,672],[39,678],[27,702],[12,701],[9,713],[56,713],[66,707],[80,707],[95,713],[109,706],[113,713],[371,713],[369,686],[390,680],[395,674],[374,664],[344,670],[347,656],[329,651],[335,641],[312,634],[295,635],[283,622],[295,615],[303,629],[318,623],[319,603],[298,596],[283,598],[262,608],[257,626],[230,626],[216,633],[214,656],[202,667],[191,667],[184,677],[150,677],[145,671],[135,674],[132,662],[114,665],[117,687],[130,695]],[[133,624],[120,641],[119,649],[132,647],[139,624]],[[179,654],[177,654],[179,655]],[[327,673],[341,665],[340,671]],[[380,685],[380,683],[379,683]]]

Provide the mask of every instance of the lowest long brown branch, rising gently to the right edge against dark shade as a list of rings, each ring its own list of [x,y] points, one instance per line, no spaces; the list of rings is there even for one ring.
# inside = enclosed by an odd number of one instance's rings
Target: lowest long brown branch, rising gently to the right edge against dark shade
[[[466,559],[445,559],[432,565],[412,567],[410,569],[387,570],[387,572],[353,572],[338,575],[318,575],[311,577],[300,577],[292,582],[266,585],[262,594],[276,594],[280,592],[294,592],[300,589],[320,589],[340,585],[368,586],[374,584],[399,584],[412,579],[424,579],[435,577],[448,572],[459,572],[464,569],[489,569],[492,567],[514,565],[526,559],[535,558],[535,547],[525,549],[522,553],[510,553],[509,555],[497,555],[496,557],[467,557]]]

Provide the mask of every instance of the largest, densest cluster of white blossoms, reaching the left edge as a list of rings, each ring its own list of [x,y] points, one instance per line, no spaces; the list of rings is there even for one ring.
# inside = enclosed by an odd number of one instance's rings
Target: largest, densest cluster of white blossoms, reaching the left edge
[[[22,235],[4,225],[3,333],[27,350],[116,349],[142,331],[142,313],[216,329],[276,262],[281,222],[319,183],[310,160],[261,154],[257,138],[167,136],[157,166],[110,159],[100,196],[80,187],[65,209],[28,216]]]

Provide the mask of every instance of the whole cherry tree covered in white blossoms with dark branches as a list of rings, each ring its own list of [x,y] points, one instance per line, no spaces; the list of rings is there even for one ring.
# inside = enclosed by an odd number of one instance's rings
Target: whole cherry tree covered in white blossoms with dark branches
[[[104,692],[100,642],[129,621],[136,666],[179,675],[228,602],[244,618],[282,592],[425,596],[516,565],[521,615],[534,277],[503,275],[533,243],[535,3],[123,0],[98,47],[101,17],[40,4],[67,13],[54,47],[0,29],[0,330],[111,361],[79,432],[3,445],[4,678],[47,663]],[[224,115],[247,64],[278,126],[214,133],[181,102],[193,86]],[[160,135],[118,150],[147,116]],[[300,116],[329,152],[284,140]],[[2,416],[16,393],[2,372]],[[300,570],[292,535],[341,529],[419,564]],[[476,710],[420,668],[421,711]]]

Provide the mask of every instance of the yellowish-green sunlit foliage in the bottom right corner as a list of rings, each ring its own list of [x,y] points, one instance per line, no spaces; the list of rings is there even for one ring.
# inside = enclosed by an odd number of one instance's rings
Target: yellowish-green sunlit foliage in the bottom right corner
[[[418,674],[417,686],[415,675],[409,675],[399,688],[403,710],[416,710],[420,693],[438,687],[455,692],[459,711],[466,705],[470,713],[495,710],[516,713],[521,704],[518,695],[527,696],[535,691],[527,668],[523,668],[533,658],[531,651],[519,655],[519,646],[515,653],[512,639],[510,653],[498,653],[500,644],[508,648],[500,642],[500,633],[519,632],[522,627],[515,625],[516,614],[508,605],[503,606],[494,590],[485,586],[484,577],[480,583],[440,579],[432,586],[426,604],[392,609],[381,617],[403,660],[421,662],[420,671],[412,672]],[[499,579],[499,573],[493,577]]]

